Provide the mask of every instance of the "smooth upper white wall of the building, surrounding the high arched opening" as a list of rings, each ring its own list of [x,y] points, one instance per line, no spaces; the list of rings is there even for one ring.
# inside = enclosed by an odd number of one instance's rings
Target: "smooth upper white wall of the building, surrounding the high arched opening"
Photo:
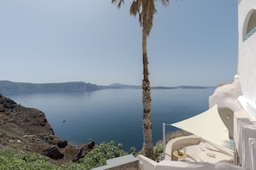
[[[256,102],[256,33],[248,39],[244,36],[256,25],[256,0],[241,0],[238,6],[239,15],[239,56],[237,75],[243,95],[247,100]]]

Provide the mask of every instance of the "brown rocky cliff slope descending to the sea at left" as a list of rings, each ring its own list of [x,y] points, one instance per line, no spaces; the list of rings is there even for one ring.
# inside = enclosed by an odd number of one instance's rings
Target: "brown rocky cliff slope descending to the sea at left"
[[[43,112],[18,105],[0,94],[0,149],[9,147],[17,151],[36,152],[61,164],[78,161],[93,146],[94,142],[78,147],[60,140],[54,136]]]

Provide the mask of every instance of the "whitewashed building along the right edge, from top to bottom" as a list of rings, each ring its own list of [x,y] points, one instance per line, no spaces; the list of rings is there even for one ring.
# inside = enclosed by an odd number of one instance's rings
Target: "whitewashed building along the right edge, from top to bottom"
[[[238,67],[232,84],[216,88],[218,110],[234,138],[235,163],[256,170],[256,0],[238,1]]]

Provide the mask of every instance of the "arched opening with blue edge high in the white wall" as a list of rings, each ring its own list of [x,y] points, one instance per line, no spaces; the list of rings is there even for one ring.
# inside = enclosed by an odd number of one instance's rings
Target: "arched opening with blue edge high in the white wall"
[[[243,40],[249,39],[253,33],[256,33],[256,10],[252,9],[248,12],[243,27]]]

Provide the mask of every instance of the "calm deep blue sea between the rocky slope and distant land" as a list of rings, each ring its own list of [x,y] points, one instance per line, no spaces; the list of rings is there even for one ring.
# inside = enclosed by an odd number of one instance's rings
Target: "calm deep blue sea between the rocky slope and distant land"
[[[174,123],[208,109],[215,88],[153,89],[153,142],[162,139],[162,123]],[[18,94],[8,97],[47,116],[55,135],[72,144],[114,140],[123,149],[142,148],[140,89],[103,89],[84,93]],[[66,122],[62,120],[65,119]],[[175,131],[166,127],[166,131]]]

